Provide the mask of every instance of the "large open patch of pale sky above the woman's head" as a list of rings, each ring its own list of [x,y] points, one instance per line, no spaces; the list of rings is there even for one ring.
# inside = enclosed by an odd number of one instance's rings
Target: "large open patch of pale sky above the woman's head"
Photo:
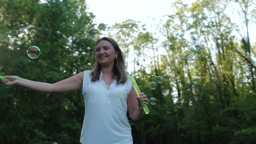
[[[147,17],[161,17],[170,13],[171,0],[86,0],[97,23],[109,26],[127,19],[146,22]]]

